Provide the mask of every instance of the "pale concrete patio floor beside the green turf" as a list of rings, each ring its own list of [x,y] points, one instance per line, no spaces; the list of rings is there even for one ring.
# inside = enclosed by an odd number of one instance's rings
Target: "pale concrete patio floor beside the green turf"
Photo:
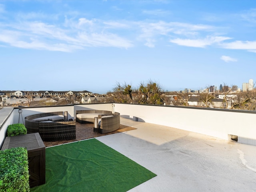
[[[129,192],[256,191],[256,146],[120,120],[137,129],[96,139],[157,174]]]

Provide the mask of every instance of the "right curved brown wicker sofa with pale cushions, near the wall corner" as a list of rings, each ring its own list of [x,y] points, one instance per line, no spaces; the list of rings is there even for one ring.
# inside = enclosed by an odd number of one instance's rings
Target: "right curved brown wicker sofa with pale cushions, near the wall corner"
[[[120,113],[105,110],[77,110],[76,122],[93,123],[98,118],[98,132],[101,134],[118,130],[120,127]],[[95,126],[95,125],[94,125]]]

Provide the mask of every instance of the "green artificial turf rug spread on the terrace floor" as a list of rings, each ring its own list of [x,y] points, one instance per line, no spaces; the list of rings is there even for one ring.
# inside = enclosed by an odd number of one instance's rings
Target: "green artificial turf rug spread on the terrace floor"
[[[46,184],[33,192],[125,192],[156,174],[96,139],[46,148]]]

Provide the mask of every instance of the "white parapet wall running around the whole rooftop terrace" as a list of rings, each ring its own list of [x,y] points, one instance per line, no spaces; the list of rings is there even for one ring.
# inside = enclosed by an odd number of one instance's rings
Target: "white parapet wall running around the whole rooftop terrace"
[[[170,126],[228,140],[237,136],[238,142],[256,145],[256,112],[242,110],[221,110],[210,108],[155,106],[116,103],[114,110],[121,117],[137,121]],[[0,146],[4,142],[9,124],[18,123],[19,108],[0,110]],[[22,108],[22,119],[41,112],[68,111],[68,119],[75,119],[76,110],[113,110],[112,104],[79,104]],[[5,118],[4,118],[5,117]]]

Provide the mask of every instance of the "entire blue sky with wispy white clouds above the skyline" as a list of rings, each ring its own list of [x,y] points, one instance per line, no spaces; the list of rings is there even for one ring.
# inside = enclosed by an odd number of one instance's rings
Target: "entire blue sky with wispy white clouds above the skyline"
[[[254,0],[0,0],[0,90],[256,80]]]

